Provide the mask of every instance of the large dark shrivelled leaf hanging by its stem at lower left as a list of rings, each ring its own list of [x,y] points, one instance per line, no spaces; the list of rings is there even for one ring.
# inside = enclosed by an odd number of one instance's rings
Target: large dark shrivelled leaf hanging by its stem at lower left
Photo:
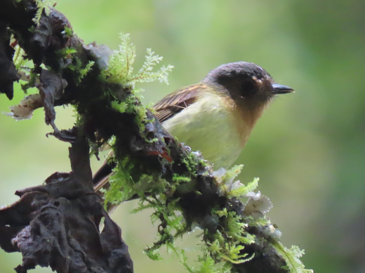
[[[45,185],[17,191],[20,200],[0,210],[1,248],[23,255],[16,272],[36,265],[69,273],[133,272],[121,230],[91,187],[87,148],[86,142],[73,143],[72,173],[56,173]]]

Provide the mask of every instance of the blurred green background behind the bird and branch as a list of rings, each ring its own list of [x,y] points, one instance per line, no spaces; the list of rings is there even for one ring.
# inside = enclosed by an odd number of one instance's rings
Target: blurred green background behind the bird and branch
[[[118,32],[131,33],[135,69],[147,47],[175,66],[169,86],[138,86],[146,90],[146,103],[199,82],[220,64],[241,60],[294,88],[258,121],[237,161],[245,164],[239,179],[260,177],[259,190],[274,204],[269,217],[283,232],[285,246],[306,250],[307,268],[365,272],[364,6],[361,0],[59,0],[56,8],[85,43],[117,49]],[[0,111],[8,112],[22,97],[18,87],[11,102],[1,95]],[[72,110],[57,111],[57,126],[72,127]],[[43,119],[42,110],[19,122],[0,115],[1,205],[16,201],[17,189],[38,185],[54,171],[70,171],[69,145],[46,138],[51,127]],[[93,170],[100,165],[92,159]],[[173,253],[160,262],[142,254],[155,227],[149,211],[129,214],[135,206],[123,204],[112,215],[135,272],[185,272]],[[192,250],[191,257],[198,234],[181,244]],[[1,251],[0,272],[14,272],[20,258]]]

